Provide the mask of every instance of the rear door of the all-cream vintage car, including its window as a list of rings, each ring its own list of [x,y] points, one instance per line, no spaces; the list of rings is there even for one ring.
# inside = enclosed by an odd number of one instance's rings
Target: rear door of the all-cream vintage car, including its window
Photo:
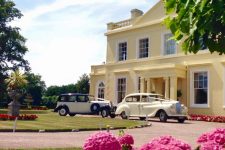
[[[139,116],[140,95],[129,96],[125,100],[130,111],[130,116]]]

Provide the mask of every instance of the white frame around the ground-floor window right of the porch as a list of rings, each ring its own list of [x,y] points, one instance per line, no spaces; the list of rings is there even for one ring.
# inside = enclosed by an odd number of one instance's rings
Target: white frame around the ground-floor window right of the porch
[[[207,104],[195,104],[194,100],[194,73],[207,72],[208,89],[207,89]],[[209,108],[210,107],[210,73],[208,68],[193,68],[190,70],[190,107],[192,108]]]

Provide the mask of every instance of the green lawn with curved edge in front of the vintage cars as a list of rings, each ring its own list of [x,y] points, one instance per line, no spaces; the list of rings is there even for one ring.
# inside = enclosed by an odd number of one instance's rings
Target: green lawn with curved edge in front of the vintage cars
[[[23,111],[21,111],[23,112]],[[33,113],[33,111],[31,111]],[[143,125],[145,122],[136,120],[122,120],[102,118],[100,116],[88,117],[88,116],[59,116],[58,113],[53,113],[50,110],[46,113],[37,114],[38,119],[35,121],[17,121],[17,130],[27,131],[71,131],[72,129],[84,131],[84,130],[99,130],[105,129],[107,125],[113,128],[133,128],[135,126]],[[30,114],[29,111],[26,111]],[[0,131],[9,130],[13,128],[14,121],[0,121]]]

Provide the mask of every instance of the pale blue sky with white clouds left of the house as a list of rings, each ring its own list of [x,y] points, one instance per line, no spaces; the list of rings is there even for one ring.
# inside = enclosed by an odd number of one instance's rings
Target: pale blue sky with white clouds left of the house
[[[27,38],[25,58],[47,86],[76,83],[106,58],[106,24],[148,11],[158,0],[14,0],[13,25]]]

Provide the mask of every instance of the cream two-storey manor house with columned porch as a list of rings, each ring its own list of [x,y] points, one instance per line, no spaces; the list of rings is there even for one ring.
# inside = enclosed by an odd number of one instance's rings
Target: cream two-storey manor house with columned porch
[[[225,116],[225,56],[204,46],[184,54],[164,18],[159,1],[145,14],[133,9],[130,19],[107,24],[106,62],[91,66],[90,94],[117,104],[129,93],[155,92],[179,99],[189,113]]]

